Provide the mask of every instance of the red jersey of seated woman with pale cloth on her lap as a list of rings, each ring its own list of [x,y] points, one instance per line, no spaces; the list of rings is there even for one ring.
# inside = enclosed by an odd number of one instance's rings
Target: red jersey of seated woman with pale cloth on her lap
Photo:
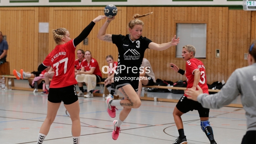
[[[87,60],[84,59],[81,64],[81,67],[84,67],[85,71],[90,71],[91,68],[95,68],[93,74],[102,77],[99,64],[98,64],[97,60],[95,60],[93,58],[91,59],[90,63],[88,63]]]

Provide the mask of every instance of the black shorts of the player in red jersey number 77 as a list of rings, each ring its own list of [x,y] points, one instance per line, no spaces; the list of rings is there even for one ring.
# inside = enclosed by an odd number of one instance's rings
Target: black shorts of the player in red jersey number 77
[[[52,103],[64,102],[65,105],[72,104],[78,100],[76,86],[69,85],[62,88],[50,88],[48,100]]]

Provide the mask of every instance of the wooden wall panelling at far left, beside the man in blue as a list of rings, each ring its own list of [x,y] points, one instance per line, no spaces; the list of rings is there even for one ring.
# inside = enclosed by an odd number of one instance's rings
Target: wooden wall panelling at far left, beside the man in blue
[[[38,8],[8,7],[0,8],[1,31],[7,36],[9,44],[7,61],[13,69],[33,71],[37,63]],[[37,21],[36,21],[37,20]],[[36,31],[37,30],[37,31]]]

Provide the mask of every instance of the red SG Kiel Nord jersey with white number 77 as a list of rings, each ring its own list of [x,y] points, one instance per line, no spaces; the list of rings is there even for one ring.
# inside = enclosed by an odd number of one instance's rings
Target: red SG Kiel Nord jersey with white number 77
[[[76,47],[73,40],[66,44],[57,45],[43,62],[44,66],[51,66],[54,69],[50,88],[77,84],[74,73]]]

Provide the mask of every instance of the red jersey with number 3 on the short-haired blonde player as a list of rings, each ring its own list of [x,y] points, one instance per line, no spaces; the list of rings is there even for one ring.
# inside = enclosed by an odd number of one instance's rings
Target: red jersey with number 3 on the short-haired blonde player
[[[205,67],[202,61],[197,60],[196,58],[190,59],[186,63],[186,79],[188,82],[187,89],[192,88],[194,84],[194,74],[193,72],[198,69],[201,72],[200,80],[198,85],[202,88],[204,93],[208,93],[208,86],[206,83]],[[197,90],[197,88],[196,88]],[[184,94],[187,96],[186,94]]]

